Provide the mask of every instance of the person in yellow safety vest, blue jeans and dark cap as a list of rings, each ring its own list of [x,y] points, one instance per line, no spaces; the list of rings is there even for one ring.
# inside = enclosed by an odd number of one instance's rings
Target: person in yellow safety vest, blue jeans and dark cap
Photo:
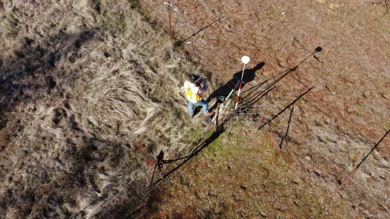
[[[203,115],[213,115],[214,112],[209,112],[209,103],[202,98],[202,94],[207,90],[207,80],[205,78],[198,74],[192,74],[189,76],[189,80],[184,82],[184,88],[188,101],[188,113],[191,117],[193,117],[195,106],[203,107]]]

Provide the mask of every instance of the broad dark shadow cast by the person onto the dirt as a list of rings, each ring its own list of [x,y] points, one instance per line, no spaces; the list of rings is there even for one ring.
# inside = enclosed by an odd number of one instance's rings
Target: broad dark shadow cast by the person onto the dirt
[[[260,62],[256,64],[253,68],[248,68],[244,70],[244,76],[242,78],[243,84],[241,85],[241,89],[245,86],[246,83],[254,80],[255,72],[261,69],[265,64],[266,64],[265,62]],[[210,102],[212,98],[217,96],[224,96],[226,98],[233,89],[235,89],[235,91],[238,91],[239,89],[238,83],[241,80],[241,76],[242,76],[242,70],[236,72],[236,74],[233,75],[233,78],[230,81],[228,81],[226,84],[220,86],[218,89],[213,91],[213,93],[209,95],[206,101]],[[216,101],[214,105],[210,108],[210,111],[213,111],[213,109],[217,105],[217,102],[218,101]]]

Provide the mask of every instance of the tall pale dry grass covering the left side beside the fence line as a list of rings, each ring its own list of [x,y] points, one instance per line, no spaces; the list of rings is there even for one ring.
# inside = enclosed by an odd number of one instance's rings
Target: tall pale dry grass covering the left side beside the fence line
[[[0,6],[2,218],[91,217],[147,185],[145,158],[187,153],[200,69],[130,3]]]

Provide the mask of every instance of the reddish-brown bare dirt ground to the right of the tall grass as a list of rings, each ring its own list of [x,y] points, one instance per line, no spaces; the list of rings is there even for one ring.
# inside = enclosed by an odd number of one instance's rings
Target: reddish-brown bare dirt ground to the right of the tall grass
[[[356,183],[331,198],[390,129],[384,1],[169,3],[141,1],[141,7],[167,31],[170,12],[175,45],[197,56],[219,81],[240,71],[241,56],[251,57],[254,77],[245,84],[242,104],[268,104],[268,118],[280,112],[270,121],[278,143],[267,126],[255,133],[255,126],[240,123],[160,187],[137,216],[390,216],[389,136],[360,166]],[[322,51],[314,53],[318,46]]]

